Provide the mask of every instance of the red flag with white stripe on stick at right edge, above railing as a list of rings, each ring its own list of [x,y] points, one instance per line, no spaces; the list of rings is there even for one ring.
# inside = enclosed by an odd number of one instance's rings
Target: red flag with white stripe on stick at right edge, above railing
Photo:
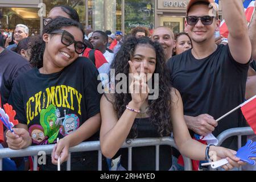
[[[256,96],[240,105],[243,116],[256,134]]]

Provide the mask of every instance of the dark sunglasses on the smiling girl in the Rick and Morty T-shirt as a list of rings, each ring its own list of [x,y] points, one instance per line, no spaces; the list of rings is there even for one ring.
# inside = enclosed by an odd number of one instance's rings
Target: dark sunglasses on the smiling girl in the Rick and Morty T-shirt
[[[86,45],[81,41],[75,41],[73,35],[71,35],[68,31],[65,30],[56,30],[51,32],[51,34],[62,34],[61,35],[61,43],[65,46],[70,46],[71,44],[75,44],[75,51],[80,55],[80,53],[84,52],[86,49]]]

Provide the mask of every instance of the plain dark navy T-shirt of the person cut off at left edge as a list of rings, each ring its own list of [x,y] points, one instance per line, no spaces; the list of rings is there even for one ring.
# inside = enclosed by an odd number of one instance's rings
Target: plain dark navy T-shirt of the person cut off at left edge
[[[30,63],[22,56],[5,49],[0,53],[0,93],[2,105],[9,99],[15,78],[31,69]]]

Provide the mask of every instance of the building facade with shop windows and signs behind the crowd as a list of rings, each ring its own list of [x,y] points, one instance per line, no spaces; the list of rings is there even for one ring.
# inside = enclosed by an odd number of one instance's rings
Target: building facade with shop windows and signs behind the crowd
[[[185,11],[189,0],[0,0],[3,29],[14,30],[26,24],[31,34],[39,34],[43,18],[56,5],[73,7],[84,26],[93,30],[121,30],[129,34],[137,26],[152,30],[168,26],[174,32],[184,30]],[[221,3],[220,3],[221,4]],[[221,18],[221,6],[220,18]]]

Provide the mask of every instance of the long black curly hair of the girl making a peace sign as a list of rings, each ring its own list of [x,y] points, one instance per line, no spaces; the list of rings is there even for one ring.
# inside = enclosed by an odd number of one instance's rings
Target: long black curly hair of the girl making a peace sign
[[[159,97],[156,100],[148,100],[148,111],[150,114],[151,123],[158,127],[158,133],[160,137],[169,135],[172,131],[170,108],[171,108],[171,78],[170,73],[166,67],[164,59],[163,49],[158,42],[152,42],[147,37],[135,38],[131,37],[123,43],[120,51],[115,56],[110,68],[115,70],[115,75],[118,73],[124,73],[129,76],[129,63],[131,56],[134,55],[134,51],[137,46],[147,46],[154,49],[156,53],[156,68],[154,73],[159,74]],[[109,75],[109,80],[112,78]],[[128,79],[127,79],[128,80]],[[118,80],[115,80],[115,85],[118,84]],[[129,81],[127,81],[127,84]],[[154,83],[154,76],[152,77]],[[129,93],[129,86],[127,86],[127,92]],[[131,101],[131,94],[126,93],[114,93],[113,102],[114,109],[117,111],[118,118],[126,110],[126,105]],[[108,98],[108,97],[107,97]],[[109,99],[108,99],[109,100]],[[129,138],[137,138],[137,126],[134,123]]]

